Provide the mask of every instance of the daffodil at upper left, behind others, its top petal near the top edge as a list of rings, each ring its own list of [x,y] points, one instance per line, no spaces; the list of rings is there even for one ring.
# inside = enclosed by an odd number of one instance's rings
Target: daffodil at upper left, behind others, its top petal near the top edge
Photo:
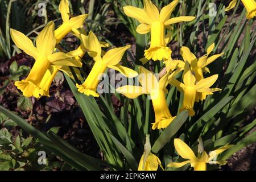
[[[61,24],[61,26],[55,30],[56,43],[59,43],[64,38],[64,36],[71,32],[72,28],[77,29],[82,27],[85,18],[88,16],[88,14],[82,14],[70,18],[68,0],[60,1],[59,11],[63,20],[63,24]]]

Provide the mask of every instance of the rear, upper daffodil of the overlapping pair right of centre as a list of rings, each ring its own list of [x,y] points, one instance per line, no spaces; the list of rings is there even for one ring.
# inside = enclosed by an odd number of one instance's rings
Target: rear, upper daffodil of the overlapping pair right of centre
[[[201,56],[199,59],[197,59],[197,57],[189,50],[188,47],[184,47],[184,46],[181,47],[180,49],[181,56],[183,57],[184,61],[188,61],[188,63],[190,64],[191,71],[195,75],[196,81],[200,81],[204,78],[203,72],[210,73],[209,69],[207,68],[207,65],[209,65],[214,60],[218,59],[218,57],[221,57],[224,54],[224,53],[220,53],[220,54],[208,57],[210,53],[213,51],[213,48],[214,48],[214,43],[207,48],[207,53],[204,56]]]

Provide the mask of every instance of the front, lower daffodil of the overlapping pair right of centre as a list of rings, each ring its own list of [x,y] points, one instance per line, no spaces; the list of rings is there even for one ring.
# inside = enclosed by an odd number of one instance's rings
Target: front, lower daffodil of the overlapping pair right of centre
[[[186,62],[184,66],[183,82],[177,81],[174,77],[171,78],[170,84],[176,86],[180,92],[184,92],[183,106],[181,110],[187,109],[190,116],[195,115],[193,110],[195,101],[199,101],[198,93],[206,95],[213,94],[213,92],[221,89],[209,88],[217,80],[218,75],[213,75],[196,82],[196,77],[192,74],[189,68],[189,63]]]

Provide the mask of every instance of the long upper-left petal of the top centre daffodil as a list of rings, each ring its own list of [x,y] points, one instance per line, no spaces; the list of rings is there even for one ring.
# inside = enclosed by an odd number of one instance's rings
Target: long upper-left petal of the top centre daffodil
[[[139,23],[151,24],[151,19],[143,9],[133,6],[124,6],[123,11],[127,16],[137,19]]]

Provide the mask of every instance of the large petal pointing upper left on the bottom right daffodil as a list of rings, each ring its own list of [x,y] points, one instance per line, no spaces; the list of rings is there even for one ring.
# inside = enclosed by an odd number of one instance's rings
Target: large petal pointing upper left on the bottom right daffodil
[[[177,153],[184,159],[190,159],[192,161],[197,160],[194,152],[191,150],[191,148],[183,142],[183,140],[179,138],[174,139],[174,146],[177,151]]]

